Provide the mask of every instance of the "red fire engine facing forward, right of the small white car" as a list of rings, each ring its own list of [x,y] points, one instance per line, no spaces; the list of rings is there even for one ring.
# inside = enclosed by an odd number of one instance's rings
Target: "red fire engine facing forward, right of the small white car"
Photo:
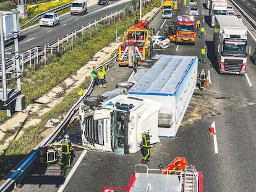
[[[197,21],[193,15],[177,15],[176,43],[195,43]]]

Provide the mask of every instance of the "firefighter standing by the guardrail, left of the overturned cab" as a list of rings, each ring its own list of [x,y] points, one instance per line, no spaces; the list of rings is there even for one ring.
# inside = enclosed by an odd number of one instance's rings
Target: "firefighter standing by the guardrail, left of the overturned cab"
[[[64,169],[64,167],[70,167],[71,165],[71,153],[73,152],[72,144],[69,140],[69,135],[64,136],[64,140],[61,141],[61,162],[59,163],[61,165],[61,169]]]

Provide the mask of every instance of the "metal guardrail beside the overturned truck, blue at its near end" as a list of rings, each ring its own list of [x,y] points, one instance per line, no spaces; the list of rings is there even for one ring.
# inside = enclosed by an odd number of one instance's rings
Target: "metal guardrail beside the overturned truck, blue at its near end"
[[[148,19],[148,22],[151,22],[151,20],[153,20],[153,18],[158,14],[158,12],[160,12],[160,10],[161,10],[161,7],[153,15],[151,15],[151,17]],[[111,60],[103,64],[103,65],[107,65],[106,69],[109,69],[109,64],[111,62],[114,62],[117,56],[118,54],[116,54],[116,56],[114,56]],[[40,144],[40,146],[36,150],[30,152],[30,155],[28,156],[28,158],[25,159],[25,161],[21,163],[21,165],[15,170],[15,172],[12,173],[12,175],[9,178],[6,179],[6,182],[4,182],[0,186],[0,191],[11,191],[13,188],[15,188],[16,183],[22,180],[23,177],[25,177],[25,175],[31,169],[36,159],[38,159],[38,154],[40,149],[43,148],[44,146],[47,146],[49,143],[52,143],[59,135],[61,135],[61,133],[64,133],[64,130],[66,129],[67,125],[69,125],[70,120],[74,117],[76,112],[79,110],[79,104],[83,102],[83,99],[92,92],[93,84],[94,84],[94,80],[92,79],[88,90],[86,90],[85,94],[83,94],[83,96],[80,97],[79,101],[77,101],[77,103],[75,103],[74,106],[69,110],[66,117],[64,117],[64,119],[59,123],[59,125],[55,128],[53,133],[51,133],[51,135],[49,135],[48,138],[43,140],[43,142]]]

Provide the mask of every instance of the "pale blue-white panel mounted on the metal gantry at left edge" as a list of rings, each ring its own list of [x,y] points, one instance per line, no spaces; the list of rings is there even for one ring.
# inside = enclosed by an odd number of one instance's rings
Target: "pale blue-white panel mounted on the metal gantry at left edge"
[[[19,34],[19,12],[1,11],[4,43],[9,44],[14,40],[14,35]]]

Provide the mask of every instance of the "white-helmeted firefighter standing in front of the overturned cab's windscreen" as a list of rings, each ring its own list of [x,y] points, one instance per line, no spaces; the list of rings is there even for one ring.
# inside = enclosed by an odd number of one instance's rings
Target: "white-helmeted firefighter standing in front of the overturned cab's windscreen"
[[[142,164],[147,164],[147,162],[149,162],[148,158],[150,157],[151,150],[149,131],[150,128],[147,127],[145,128],[144,133],[142,133],[142,142],[140,144],[140,151],[142,152]]]

